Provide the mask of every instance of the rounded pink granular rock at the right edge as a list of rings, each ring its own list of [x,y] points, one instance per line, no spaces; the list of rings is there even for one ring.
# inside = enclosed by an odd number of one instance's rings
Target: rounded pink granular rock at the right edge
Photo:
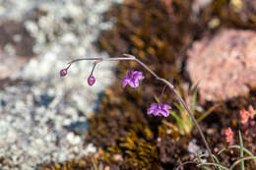
[[[256,84],[256,33],[223,29],[193,43],[186,71],[203,101],[246,95]]]

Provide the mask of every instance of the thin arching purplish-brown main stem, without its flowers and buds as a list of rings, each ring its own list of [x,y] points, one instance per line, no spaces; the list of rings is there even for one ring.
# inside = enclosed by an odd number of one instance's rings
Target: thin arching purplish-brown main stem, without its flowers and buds
[[[182,99],[182,97],[178,94],[177,90],[175,89],[174,85],[172,85],[171,83],[169,83],[168,81],[160,78],[155,72],[153,72],[146,64],[144,64],[141,60],[137,59],[135,56],[130,55],[130,54],[123,54],[125,57],[114,57],[114,58],[101,58],[101,57],[94,57],[94,58],[81,58],[81,59],[76,59],[73,60],[71,62],[68,63],[68,68],[75,62],[78,61],[82,61],[82,60],[96,60],[96,61],[136,61],[137,63],[139,63],[142,67],[144,67],[144,69],[146,69],[148,72],[150,72],[157,80],[159,80],[161,83],[167,85],[170,90],[172,90],[177,98],[177,100],[184,106],[184,108],[186,109],[186,111],[188,112],[189,116],[192,118],[193,123],[196,125],[196,128],[199,131],[199,134],[207,148],[207,151],[212,159],[213,162],[215,162],[214,157],[213,157],[213,153],[210,149],[210,146],[208,144],[208,142],[205,139],[205,136],[203,134],[202,129],[200,128],[199,124],[196,121],[195,116],[193,115],[193,113],[191,112],[191,110],[189,109],[189,107],[187,106],[187,104],[185,103],[185,101]]]

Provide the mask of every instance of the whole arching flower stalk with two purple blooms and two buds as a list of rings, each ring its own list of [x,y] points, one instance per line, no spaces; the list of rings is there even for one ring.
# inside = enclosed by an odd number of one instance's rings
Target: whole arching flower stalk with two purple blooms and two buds
[[[170,88],[171,91],[174,92],[177,100],[184,106],[184,108],[186,109],[186,111],[188,112],[189,116],[192,118],[193,123],[196,125],[196,128],[199,131],[199,134],[202,138],[202,141],[204,142],[208,153],[212,159],[213,162],[215,162],[214,158],[213,158],[213,154],[212,151],[210,149],[210,146],[208,144],[208,142],[205,139],[205,136],[203,134],[202,129],[200,128],[199,124],[196,121],[196,118],[194,117],[193,113],[191,112],[191,110],[189,109],[189,107],[187,106],[187,104],[185,103],[185,101],[182,99],[182,97],[178,94],[177,90],[175,89],[174,85],[172,85],[171,83],[169,83],[168,81],[160,78],[155,72],[153,72],[146,64],[144,64],[141,60],[137,59],[135,56],[130,55],[130,54],[123,54],[125,57],[113,57],[113,58],[101,58],[101,57],[94,57],[94,58],[81,58],[81,59],[76,59],[71,61],[70,63],[68,63],[68,67],[66,69],[63,69],[60,71],[60,76],[66,76],[67,75],[67,71],[70,68],[70,66],[78,61],[82,61],[82,60],[93,60],[96,61],[96,63],[101,62],[101,61],[135,61],[137,63],[139,63],[144,69],[146,69],[148,72],[150,72],[158,81],[160,81],[161,83],[163,83],[164,85],[168,86]],[[96,66],[95,63],[95,66]],[[89,79],[92,79],[92,74],[94,72],[95,66],[93,68],[93,71],[89,77]],[[143,76],[142,72],[139,71],[129,71],[128,74],[125,76],[125,78],[123,79],[123,86],[126,85],[130,85],[131,87],[138,87],[139,86],[139,80],[143,80],[145,77]],[[93,82],[92,82],[93,83]],[[90,85],[90,84],[89,84]],[[168,113],[168,109],[170,109],[171,107],[167,104],[160,104],[160,103],[153,103],[151,105],[151,108],[148,109],[148,114],[154,114],[155,116],[164,116],[167,117],[169,115]]]

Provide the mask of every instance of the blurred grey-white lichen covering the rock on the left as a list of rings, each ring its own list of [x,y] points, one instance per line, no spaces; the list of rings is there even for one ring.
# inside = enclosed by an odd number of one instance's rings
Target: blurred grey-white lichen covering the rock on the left
[[[114,2],[0,0],[0,21],[23,23],[35,40],[35,56],[11,76],[23,82],[0,89],[0,157],[12,166],[0,169],[31,170],[45,161],[96,151],[92,144],[85,146],[83,131],[99,104],[98,94],[115,80],[115,64],[98,64],[93,86],[87,84],[93,62],[72,65],[64,78],[59,71],[72,59],[108,57],[96,51],[94,42],[102,29],[111,28],[112,23],[102,22],[102,14]],[[19,35],[14,39],[19,41]]]

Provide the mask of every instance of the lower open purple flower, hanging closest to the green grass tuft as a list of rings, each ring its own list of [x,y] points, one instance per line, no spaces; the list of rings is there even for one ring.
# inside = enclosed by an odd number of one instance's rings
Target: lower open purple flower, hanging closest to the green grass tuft
[[[168,109],[171,109],[168,104],[152,103],[151,108],[148,109],[148,114],[154,114],[154,116],[168,117]]]

